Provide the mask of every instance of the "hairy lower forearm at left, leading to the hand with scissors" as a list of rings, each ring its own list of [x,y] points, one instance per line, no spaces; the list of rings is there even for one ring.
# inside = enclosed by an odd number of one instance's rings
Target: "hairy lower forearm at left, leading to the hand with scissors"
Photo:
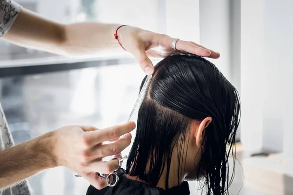
[[[55,167],[51,133],[0,151],[0,189]]]

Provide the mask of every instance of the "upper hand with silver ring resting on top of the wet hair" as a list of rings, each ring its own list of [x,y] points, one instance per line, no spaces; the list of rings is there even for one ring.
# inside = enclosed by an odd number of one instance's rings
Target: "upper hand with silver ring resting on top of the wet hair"
[[[154,66],[148,57],[165,58],[174,53],[191,53],[198,56],[217,59],[220,54],[195,42],[178,40],[176,49],[172,49],[171,38],[164,34],[146,31],[140,28],[123,26],[118,30],[118,39],[127,52],[137,60],[147,75],[154,72]]]

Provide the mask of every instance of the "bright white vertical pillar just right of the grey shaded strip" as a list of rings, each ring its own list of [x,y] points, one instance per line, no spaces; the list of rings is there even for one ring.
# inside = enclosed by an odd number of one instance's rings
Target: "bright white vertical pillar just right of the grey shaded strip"
[[[264,100],[264,0],[241,1],[241,142],[262,147]]]

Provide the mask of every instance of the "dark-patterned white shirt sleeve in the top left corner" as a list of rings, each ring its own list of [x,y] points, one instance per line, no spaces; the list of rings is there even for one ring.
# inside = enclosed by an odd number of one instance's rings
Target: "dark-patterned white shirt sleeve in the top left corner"
[[[11,0],[0,0],[0,38],[10,29],[21,6]]]

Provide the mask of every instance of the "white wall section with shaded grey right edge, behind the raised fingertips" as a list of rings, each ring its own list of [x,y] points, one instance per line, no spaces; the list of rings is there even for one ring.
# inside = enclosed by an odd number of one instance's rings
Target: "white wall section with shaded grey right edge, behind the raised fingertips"
[[[212,61],[241,93],[241,0],[200,0],[200,44],[221,54]],[[237,139],[240,137],[240,127]]]

